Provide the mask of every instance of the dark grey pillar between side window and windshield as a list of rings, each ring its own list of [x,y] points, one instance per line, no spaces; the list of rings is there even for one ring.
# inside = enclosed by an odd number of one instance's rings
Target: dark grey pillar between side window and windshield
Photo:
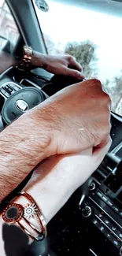
[[[20,35],[24,39],[24,43],[28,44],[33,50],[47,54],[46,47],[43,42],[39,20],[37,19],[35,9],[31,0],[6,0],[13,17],[16,20]],[[50,80],[52,75],[44,69],[37,69],[39,76],[47,77]]]

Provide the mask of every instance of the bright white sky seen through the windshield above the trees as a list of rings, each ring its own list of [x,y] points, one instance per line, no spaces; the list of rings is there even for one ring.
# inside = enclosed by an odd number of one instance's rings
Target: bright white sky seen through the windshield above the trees
[[[122,69],[122,18],[97,13],[50,0],[47,13],[36,8],[39,22],[46,35],[61,49],[69,41],[90,39],[98,45],[98,78],[112,79]]]

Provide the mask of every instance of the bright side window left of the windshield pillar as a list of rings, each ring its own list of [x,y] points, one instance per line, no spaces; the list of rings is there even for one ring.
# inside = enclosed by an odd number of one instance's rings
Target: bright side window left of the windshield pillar
[[[19,38],[17,24],[4,0],[0,0],[0,50],[13,52]]]

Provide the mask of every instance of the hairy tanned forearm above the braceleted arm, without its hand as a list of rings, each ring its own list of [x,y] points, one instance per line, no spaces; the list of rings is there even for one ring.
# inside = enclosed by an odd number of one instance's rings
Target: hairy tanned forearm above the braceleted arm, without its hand
[[[44,158],[53,154],[50,124],[43,109],[25,113],[0,134],[0,201]],[[38,113],[42,113],[38,116]],[[3,189],[6,186],[6,189]]]

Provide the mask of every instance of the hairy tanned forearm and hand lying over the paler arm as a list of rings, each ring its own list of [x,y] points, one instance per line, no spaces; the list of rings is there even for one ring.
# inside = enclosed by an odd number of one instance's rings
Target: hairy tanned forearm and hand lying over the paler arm
[[[109,117],[110,99],[98,80],[66,87],[24,113],[0,133],[0,200],[43,159],[107,144]]]

